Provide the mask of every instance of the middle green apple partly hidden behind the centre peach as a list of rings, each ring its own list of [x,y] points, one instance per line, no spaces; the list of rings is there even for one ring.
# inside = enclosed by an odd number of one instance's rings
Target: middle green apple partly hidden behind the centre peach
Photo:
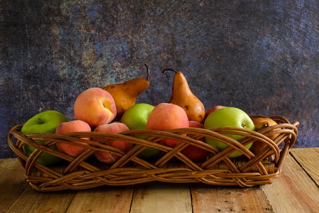
[[[154,106],[148,103],[137,103],[127,109],[120,122],[124,123],[129,129],[146,129],[146,123],[149,114],[154,109]],[[146,136],[136,136],[137,138],[145,139]],[[147,147],[138,157],[151,158],[159,154],[161,150]]]

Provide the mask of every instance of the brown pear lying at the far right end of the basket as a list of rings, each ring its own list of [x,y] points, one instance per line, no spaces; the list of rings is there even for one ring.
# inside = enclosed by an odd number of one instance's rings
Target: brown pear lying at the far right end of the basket
[[[255,131],[259,131],[260,129],[277,125],[277,122],[271,118],[263,118],[263,117],[253,118],[252,121],[255,124]],[[269,136],[269,138],[271,140],[274,140],[277,136],[278,136],[278,134],[273,134],[273,135]],[[268,145],[265,143],[262,143],[260,141],[255,141],[249,150],[256,155],[256,154],[259,154],[267,146]],[[270,155],[272,155],[272,154],[269,154],[268,156],[270,156]]]

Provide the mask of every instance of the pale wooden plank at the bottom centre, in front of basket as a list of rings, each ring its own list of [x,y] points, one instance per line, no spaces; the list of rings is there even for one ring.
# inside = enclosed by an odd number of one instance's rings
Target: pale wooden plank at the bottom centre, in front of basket
[[[187,183],[148,182],[136,185],[131,213],[192,212]]]

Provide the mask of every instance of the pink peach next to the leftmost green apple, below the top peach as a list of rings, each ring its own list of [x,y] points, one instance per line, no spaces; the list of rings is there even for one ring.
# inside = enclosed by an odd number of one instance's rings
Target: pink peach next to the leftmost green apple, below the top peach
[[[71,132],[79,132],[79,131],[91,131],[90,125],[82,120],[73,120],[69,122],[61,123],[57,129],[56,134],[63,135]],[[86,140],[90,140],[90,138],[82,138]],[[83,142],[77,142],[79,144],[87,144]],[[57,147],[61,152],[64,152],[72,157],[76,157],[80,154],[82,154],[86,148],[79,147],[75,145],[65,144],[65,143],[57,143]]]

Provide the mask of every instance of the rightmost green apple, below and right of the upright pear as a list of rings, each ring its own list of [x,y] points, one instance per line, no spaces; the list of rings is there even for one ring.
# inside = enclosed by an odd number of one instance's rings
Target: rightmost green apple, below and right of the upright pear
[[[222,108],[217,111],[214,111],[208,115],[208,117],[205,119],[205,122],[204,122],[205,129],[224,127],[224,126],[232,126],[232,127],[255,130],[255,125],[252,119],[249,117],[249,115],[247,115],[243,110],[234,108],[234,107],[227,107],[227,108]],[[240,141],[243,138],[245,138],[244,136],[231,135],[231,134],[225,134],[225,136],[232,138],[236,141]],[[205,140],[207,144],[219,150],[224,150],[228,147],[228,145],[208,137],[206,137]],[[246,145],[246,148],[249,149],[251,146],[252,146],[252,143]],[[240,151],[234,151],[228,157],[237,157],[242,154],[243,153]]]

